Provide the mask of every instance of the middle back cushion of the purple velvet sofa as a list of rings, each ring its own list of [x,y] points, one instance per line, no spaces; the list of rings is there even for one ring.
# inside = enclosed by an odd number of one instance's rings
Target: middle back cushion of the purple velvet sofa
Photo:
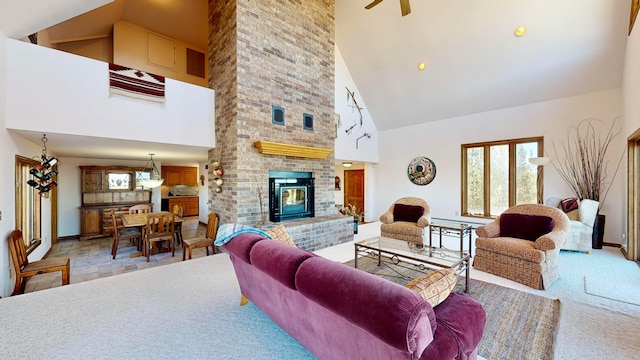
[[[296,247],[265,240],[258,242],[251,249],[251,264],[284,286],[295,290],[298,267],[303,261],[314,256],[316,255]]]

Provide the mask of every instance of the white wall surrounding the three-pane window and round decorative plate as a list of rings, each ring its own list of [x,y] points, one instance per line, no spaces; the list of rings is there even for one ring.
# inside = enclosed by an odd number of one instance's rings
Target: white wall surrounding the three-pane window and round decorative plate
[[[544,136],[546,155],[557,161],[552,141],[563,140],[570,125],[591,117],[610,123],[621,115],[622,92],[615,89],[380,132],[376,216],[397,198],[416,196],[427,200],[433,217],[457,218],[461,210],[461,144]],[[625,136],[618,136],[610,148],[611,171],[624,145]],[[407,178],[407,166],[417,156],[435,162],[436,177],[429,185],[414,185]],[[545,199],[573,196],[552,166],[546,166],[544,174]],[[620,243],[624,176],[618,174],[601,210],[607,215],[605,242]]]

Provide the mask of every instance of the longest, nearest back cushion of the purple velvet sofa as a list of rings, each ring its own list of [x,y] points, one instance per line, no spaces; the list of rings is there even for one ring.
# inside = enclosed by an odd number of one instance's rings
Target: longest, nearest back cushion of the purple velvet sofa
[[[397,349],[408,347],[419,356],[433,339],[436,318],[429,303],[381,277],[318,256],[300,265],[296,287]]]

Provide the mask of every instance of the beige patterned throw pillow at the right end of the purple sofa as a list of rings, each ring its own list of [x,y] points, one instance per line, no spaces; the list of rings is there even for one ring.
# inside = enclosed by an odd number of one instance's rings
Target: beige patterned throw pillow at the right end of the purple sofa
[[[442,269],[418,276],[405,286],[420,294],[432,307],[436,307],[449,296],[457,280],[455,270]]]

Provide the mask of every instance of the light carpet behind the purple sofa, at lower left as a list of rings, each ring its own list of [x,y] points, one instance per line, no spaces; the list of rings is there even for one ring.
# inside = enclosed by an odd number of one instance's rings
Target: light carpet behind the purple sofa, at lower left
[[[314,359],[254,305],[226,254],[0,300],[3,359]]]

